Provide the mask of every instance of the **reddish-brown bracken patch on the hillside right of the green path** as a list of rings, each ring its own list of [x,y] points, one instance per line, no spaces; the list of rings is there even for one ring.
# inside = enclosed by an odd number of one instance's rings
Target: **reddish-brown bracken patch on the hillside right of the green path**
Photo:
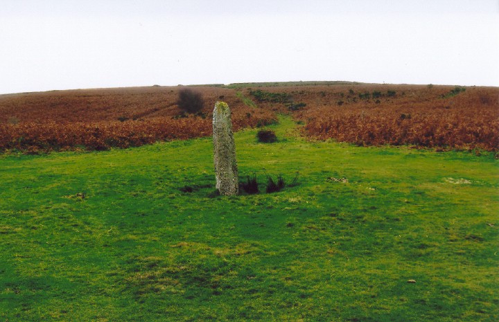
[[[358,84],[261,88],[288,93],[304,134],[358,145],[499,149],[499,88]],[[279,104],[263,102],[268,109]]]

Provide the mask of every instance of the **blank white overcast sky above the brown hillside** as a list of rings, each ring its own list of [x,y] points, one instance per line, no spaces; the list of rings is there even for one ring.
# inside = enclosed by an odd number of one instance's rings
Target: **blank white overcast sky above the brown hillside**
[[[499,86],[499,0],[1,0],[0,93],[351,80]]]

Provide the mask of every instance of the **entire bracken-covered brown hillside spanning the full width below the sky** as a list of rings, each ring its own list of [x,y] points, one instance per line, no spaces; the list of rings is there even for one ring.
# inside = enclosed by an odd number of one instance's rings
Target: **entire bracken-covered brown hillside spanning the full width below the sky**
[[[229,104],[235,129],[288,113],[304,135],[358,145],[439,150],[499,148],[499,88],[348,82],[189,87],[204,109],[177,106],[182,87],[139,87],[0,96],[0,151],[107,150],[211,135],[211,110]]]

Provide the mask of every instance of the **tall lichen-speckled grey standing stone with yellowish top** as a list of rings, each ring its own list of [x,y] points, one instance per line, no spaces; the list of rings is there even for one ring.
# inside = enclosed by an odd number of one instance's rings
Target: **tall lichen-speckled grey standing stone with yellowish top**
[[[226,102],[216,102],[213,109],[213,151],[216,188],[220,195],[237,195],[239,181],[236,145],[232,134],[231,112]]]

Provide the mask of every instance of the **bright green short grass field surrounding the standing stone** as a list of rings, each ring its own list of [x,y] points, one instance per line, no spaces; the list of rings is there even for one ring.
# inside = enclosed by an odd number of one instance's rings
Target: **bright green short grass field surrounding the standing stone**
[[[0,156],[0,321],[499,321],[493,154],[294,127],[236,134],[259,195],[214,193],[211,138]]]

